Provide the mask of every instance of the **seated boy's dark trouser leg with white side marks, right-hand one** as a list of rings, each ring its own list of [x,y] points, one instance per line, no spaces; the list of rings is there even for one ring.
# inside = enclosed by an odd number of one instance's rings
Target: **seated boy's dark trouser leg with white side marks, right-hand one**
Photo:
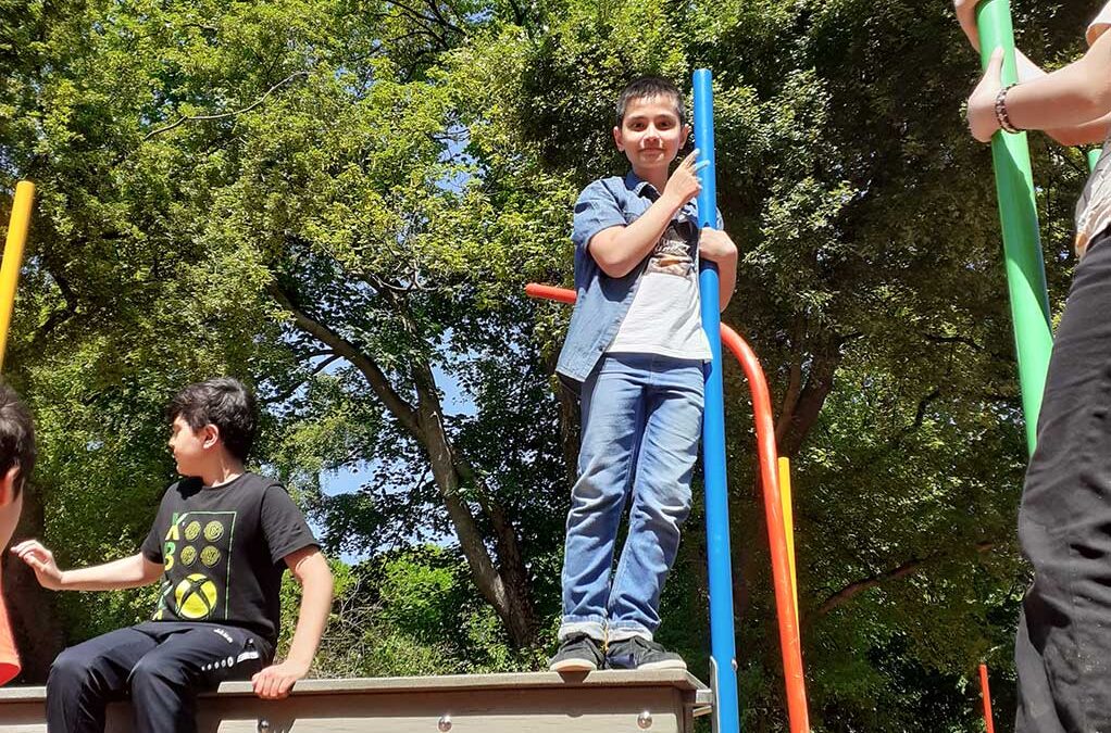
[[[158,646],[131,672],[136,733],[196,733],[197,693],[248,680],[270,659],[269,644],[237,626],[149,623]]]

